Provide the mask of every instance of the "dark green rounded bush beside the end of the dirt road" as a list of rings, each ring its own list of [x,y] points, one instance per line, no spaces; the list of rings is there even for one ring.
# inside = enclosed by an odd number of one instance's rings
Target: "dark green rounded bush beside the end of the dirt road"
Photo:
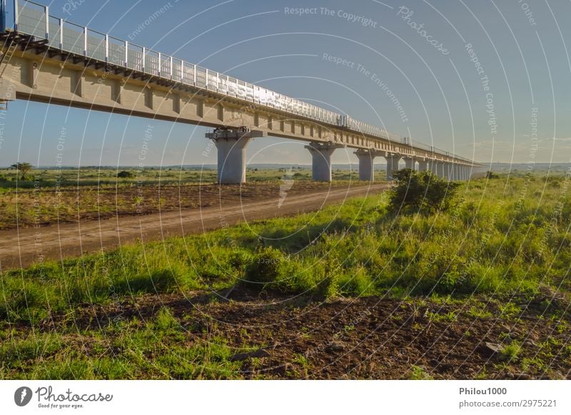
[[[389,209],[433,213],[447,211],[454,204],[460,183],[440,179],[429,171],[403,169],[393,174],[395,186],[389,191]]]

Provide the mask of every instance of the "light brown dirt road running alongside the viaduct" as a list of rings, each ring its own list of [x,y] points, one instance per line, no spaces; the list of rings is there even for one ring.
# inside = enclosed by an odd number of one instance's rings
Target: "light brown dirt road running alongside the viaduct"
[[[279,208],[279,198],[268,198],[163,214],[116,216],[99,221],[81,220],[75,224],[0,231],[0,269],[5,271],[48,259],[66,259],[101,249],[110,250],[138,239],[149,242],[169,236],[198,234],[243,221],[315,211],[353,196],[378,194],[387,188],[387,184],[375,184],[310,191],[285,197]]]

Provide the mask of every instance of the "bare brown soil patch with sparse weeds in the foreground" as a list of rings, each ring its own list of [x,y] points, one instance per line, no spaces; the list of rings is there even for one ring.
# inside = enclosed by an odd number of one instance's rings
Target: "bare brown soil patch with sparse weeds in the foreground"
[[[546,298],[552,301],[546,304]],[[569,302],[552,294],[509,300],[521,302],[522,311],[502,314],[500,305],[508,299],[482,296],[322,302],[235,289],[86,306],[73,321],[69,315],[56,317],[36,330],[59,331],[70,323],[80,331],[98,330],[133,317],[144,322],[167,307],[189,346],[221,336],[232,348],[258,348],[251,356],[235,355],[243,364],[234,376],[246,379],[571,379],[569,332],[561,329],[571,320],[565,311]],[[482,310],[483,304],[490,314],[474,316],[470,309]],[[546,319],[552,312],[562,312],[562,319]],[[510,360],[486,342],[521,349]]]

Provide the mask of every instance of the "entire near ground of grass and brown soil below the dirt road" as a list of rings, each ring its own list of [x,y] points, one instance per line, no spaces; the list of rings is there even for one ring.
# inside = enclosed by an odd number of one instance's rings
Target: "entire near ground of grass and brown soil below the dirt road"
[[[2,379],[571,379],[570,175],[0,274]]]

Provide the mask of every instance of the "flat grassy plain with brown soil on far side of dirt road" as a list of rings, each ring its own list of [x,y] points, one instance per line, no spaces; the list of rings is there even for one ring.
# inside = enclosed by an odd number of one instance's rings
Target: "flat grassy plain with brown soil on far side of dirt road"
[[[118,178],[121,171],[128,176]],[[350,171],[334,171],[333,178],[337,187],[356,179]],[[0,230],[263,200],[289,182],[288,194],[329,186],[300,167],[249,169],[242,186],[215,182],[211,169],[49,169],[31,171],[26,181],[15,170],[0,170]]]

